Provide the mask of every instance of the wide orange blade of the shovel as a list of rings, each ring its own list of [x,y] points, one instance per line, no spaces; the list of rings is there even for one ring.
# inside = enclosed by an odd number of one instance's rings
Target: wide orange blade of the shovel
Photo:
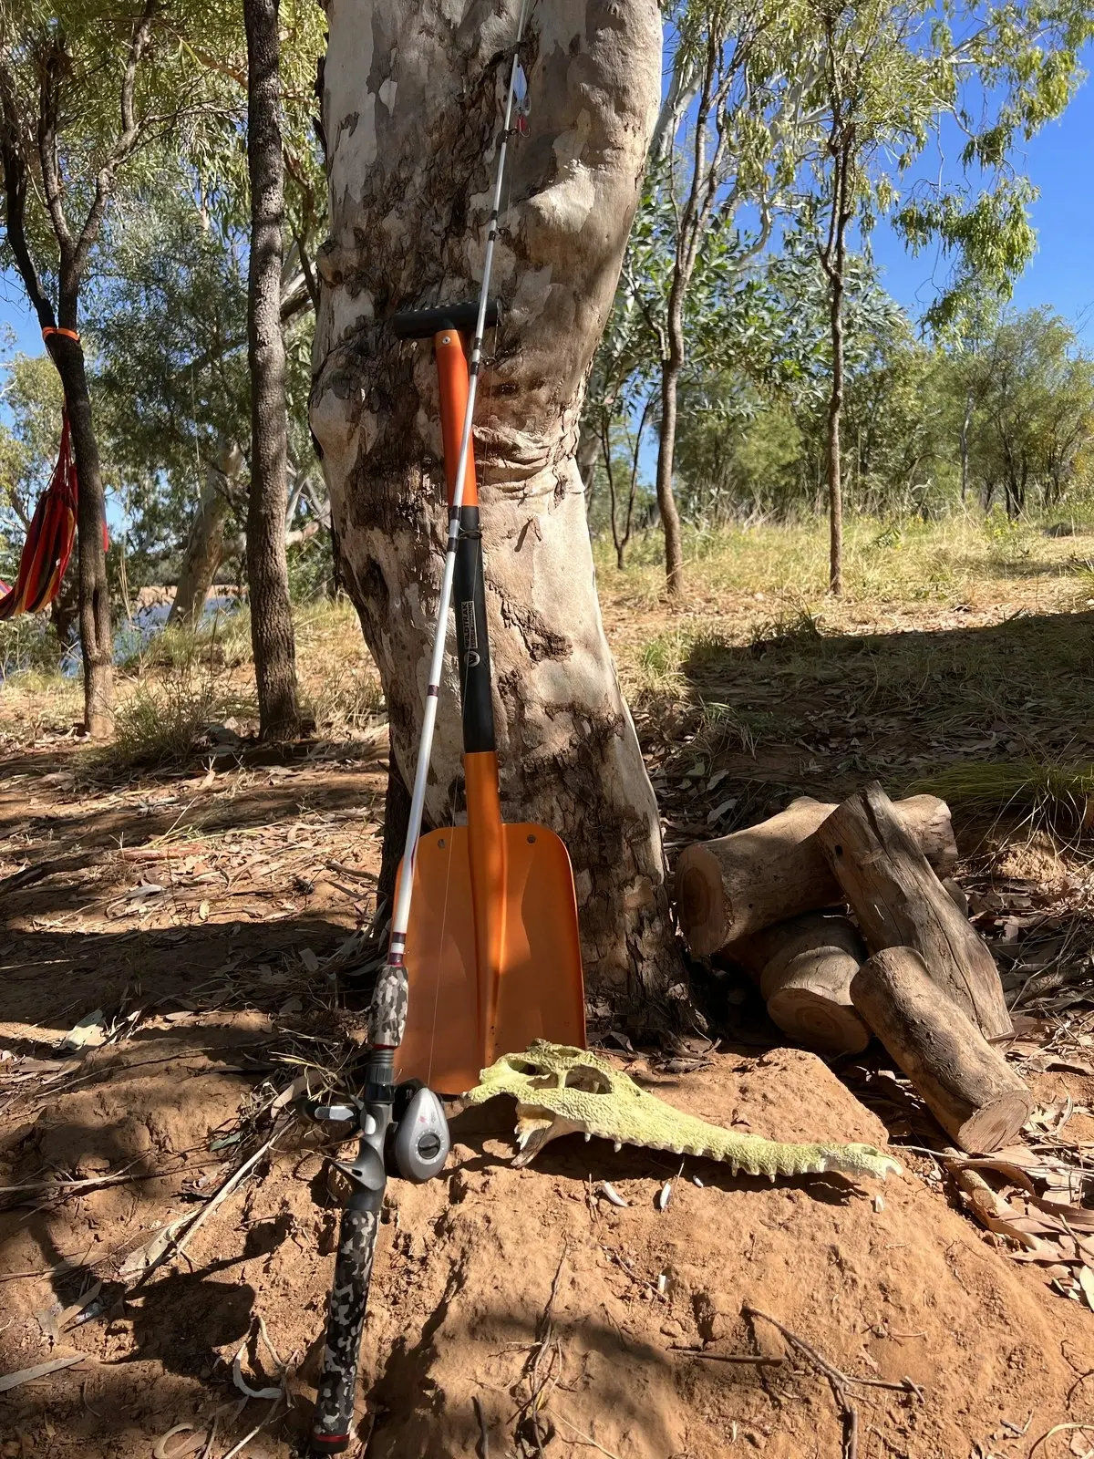
[[[417,843],[407,929],[407,1032],[395,1055],[400,1080],[462,1094],[503,1053],[532,1039],[585,1048],[585,986],[570,858],[546,826],[503,826],[505,921],[497,967],[478,966],[465,826]],[[494,985],[492,988],[492,985]],[[494,999],[486,1048],[484,999]]]

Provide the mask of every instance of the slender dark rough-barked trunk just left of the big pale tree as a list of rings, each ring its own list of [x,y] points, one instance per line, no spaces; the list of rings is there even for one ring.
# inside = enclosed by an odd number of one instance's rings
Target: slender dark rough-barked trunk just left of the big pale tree
[[[251,645],[264,738],[299,732],[296,645],[284,556],[287,423],[282,337],[282,159],[277,0],[244,0],[247,25],[247,166],[251,179],[251,264],[247,343],[251,366],[251,492],[247,579]]]

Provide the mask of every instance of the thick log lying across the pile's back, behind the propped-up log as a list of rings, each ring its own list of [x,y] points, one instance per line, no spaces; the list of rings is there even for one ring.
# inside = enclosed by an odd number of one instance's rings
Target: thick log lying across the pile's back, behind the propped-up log
[[[897,808],[919,849],[944,875],[957,861],[945,801],[912,795]],[[675,884],[680,928],[691,951],[709,957],[775,922],[842,902],[814,840],[834,810],[804,795],[759,826],[687,846],[677,861]]]

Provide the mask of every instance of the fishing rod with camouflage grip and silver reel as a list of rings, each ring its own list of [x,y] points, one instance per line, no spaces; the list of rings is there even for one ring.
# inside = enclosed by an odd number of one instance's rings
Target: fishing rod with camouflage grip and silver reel
[[[327,1313],[327,1344],[312,1425],[311,1450],[314,1455],[341,1453],[350,1443],[353,1399],[357,1388],[357,1364],[360,1360],[360,1335],[365,1326],[372,1262],[376,1255],[376,1236],[379,1233],[379,1217],[384,1205],[388,1160],[391,1160],[394,1169],[404,1179],[429,1180],[441,1174],[451,1147],[445,1107],[438,1096],[424,1085],[395,1085],[395,1052],[403,1042],[407,1026],[408,983],[404,954],[407,929],[410,926],[414,861],[422,833],[422,813],[426,801],[426,782],[433,750],[441,676],[445,662],[445,636],[452,603],[461,508],[471,449],[471,425],[483,357],[483,334],[487,327],[487,315],[494,312],[489,303],[490,270],[493,267],[497,217],[502,206],[505,156],[509,136],[512,134],[513,102],[521,76],[519,47],[524,38],[528,6],[529,0],[521,0],[521,10],[516,20],[516,41],[509,69],[509,86],[505,98],[505,120],[497,146],[497,168],[486,235],[483,282],[478,290],[478,309],[468,362],[467,409],[464,411],[459,457],[448,512],[448,544],[441,579],[441,601],[433,630],[433,652],[422,719],[422,740],[414,767],[414,788],[410,798],[403,872],[391,915],[388,957],[376,982],[369,1010],[369,1049],[365,1065],[365,1088],[360,1099],[352,1104],[331,1104],[314,1110],[315,1116],[324,1121],[354,1119],[360,1132],[360,1145],[353,1163],[338,1163],[338,1169],[350,1180],[350,1196],[341,1214],[338,1247],[334,1259],[334,1282],[331,1285]]]

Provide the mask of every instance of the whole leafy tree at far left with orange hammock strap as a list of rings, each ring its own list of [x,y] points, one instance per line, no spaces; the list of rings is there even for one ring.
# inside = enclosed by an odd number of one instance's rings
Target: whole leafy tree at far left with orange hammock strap
[[[79,622],[92,735],[112,725],[112,632],[82,293],[120,191],[203,127],[220,125],[220,77],[194,60],[187,38],[198,31],[216,51],[223,28],[219,7],[187,0],[26,0],[0,15],[4,248],[64,387],[80,483]]]

